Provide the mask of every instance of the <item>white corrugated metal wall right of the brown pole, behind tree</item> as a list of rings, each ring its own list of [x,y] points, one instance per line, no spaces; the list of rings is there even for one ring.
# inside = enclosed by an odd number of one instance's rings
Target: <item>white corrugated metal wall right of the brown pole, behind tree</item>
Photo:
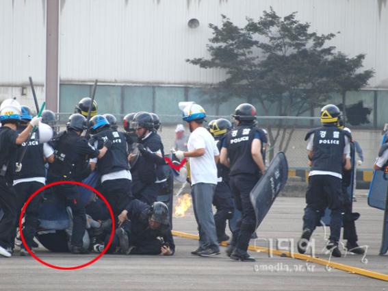
[[[226,14],[239,25],[263,10],[298,11],[320,33],[352,56],[366,53],[376,69],[372,87],[388,88],[387,0],[62,0],[60,78],[152,84],[208,84],[222,72],[203,70],[186,58],[207,55],[208,23]],[[200,26],[187,27],[190,18]]]

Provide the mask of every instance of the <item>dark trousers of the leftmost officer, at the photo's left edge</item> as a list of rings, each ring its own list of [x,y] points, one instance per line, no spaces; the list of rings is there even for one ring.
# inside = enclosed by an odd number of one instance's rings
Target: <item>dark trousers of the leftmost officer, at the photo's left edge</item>
[[[12,185],[0,177],[0,208],[3,218],[0,220],[0,246],[14,248],[14,225],[17,220],[16,193]]]

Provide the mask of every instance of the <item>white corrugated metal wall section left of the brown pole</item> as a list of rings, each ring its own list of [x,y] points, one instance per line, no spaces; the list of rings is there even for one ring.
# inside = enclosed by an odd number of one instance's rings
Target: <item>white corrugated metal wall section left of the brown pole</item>
[[[28,76],[34,76],[36,84],[44,84],[45,3],[0,1],[0,86],[28,84]]]

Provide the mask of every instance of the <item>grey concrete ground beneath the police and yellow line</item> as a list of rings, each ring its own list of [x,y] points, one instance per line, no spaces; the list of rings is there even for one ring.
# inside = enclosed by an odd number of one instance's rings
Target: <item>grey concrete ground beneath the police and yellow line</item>
[[[388,274],[388,256],[378,256],[383,211],[367,206],[365,194],[357,192],[354,211],[361,213],[357,221],[359,243],[369,246],[367,264],[361,256],[347,255],[333,261]],[[301,198],[279,197],[257,230],[259,238],[300,236]],[[174,229],[196,233],[192,209],[183,218],[174,218]],[[316,255],[324,254],[322,227],[313,236]],[[269,257],[266,253],[251,253],[255,263],[235,262],[224,254],[217,257],[196,257],[190,251],[197,242],[176,238],[177,252],[172,257],[105,255],[92,266],[81,270],[53,270],[31,257],[0,259],[0,290],[388,290],[388,282],[350,274],[341,270],[326,270],[318,264],[287,257]],[[252,241],[252,244],[254,242]],[[266,242],[257,243],[268,246]],[[49,253],[44,249],[39,257],[51,264],[74,266],[91,260],[95,255]]]

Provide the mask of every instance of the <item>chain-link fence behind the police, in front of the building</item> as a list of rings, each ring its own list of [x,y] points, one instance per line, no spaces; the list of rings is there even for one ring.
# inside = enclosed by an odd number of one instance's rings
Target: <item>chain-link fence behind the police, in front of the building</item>
[[[60,125],[63,128],[71,113],[57,114]],[[123,114],[114,114],[118,120],[119,128],[122,127]],[[207,121],[216,118],[227,118],[231,116],[207,116]],[[159,115],[161,120],[161,130],[159,134],[164,142],[166,151],[174,147],[175,128],[177,124],[185,126],[186,134],[190,134],[188,127],[182,121],[181,115]],[[320,126],[320,118],[305,116],[257,116],[259,127],[268,131],[268,149],[266,163],[278,151],[284,151],[292,169],[307,169],[307,142],[305,136],[309,129]],[[355,140],[359,142],[363,149],[363,164],[359,168],[370,169],[374,164],[376,153],[380,144],[380,131],[371,129],[355,129],[352,131]],[[360,160],[357,157],[357,160]]]

